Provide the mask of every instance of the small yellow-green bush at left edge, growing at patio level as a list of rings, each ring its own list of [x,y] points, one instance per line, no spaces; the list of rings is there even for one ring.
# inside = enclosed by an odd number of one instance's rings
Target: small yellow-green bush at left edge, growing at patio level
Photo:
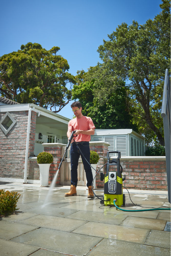
[[[17,202],[20,194],[17,192],[9,192],[4,189],[0,190],[0,215],[6,216],[18,210]]]

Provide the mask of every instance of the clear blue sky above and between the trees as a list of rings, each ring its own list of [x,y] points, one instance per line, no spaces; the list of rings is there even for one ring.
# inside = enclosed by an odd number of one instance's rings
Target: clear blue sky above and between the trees
[[[59,46],[69,72],[100,62],[98,46],[122,22],[144,24],[161,9],[162,0],[6,0],[1,1],[0,56],[36,42],[50,50]],[[72,119],[68,104],[58,114]]]

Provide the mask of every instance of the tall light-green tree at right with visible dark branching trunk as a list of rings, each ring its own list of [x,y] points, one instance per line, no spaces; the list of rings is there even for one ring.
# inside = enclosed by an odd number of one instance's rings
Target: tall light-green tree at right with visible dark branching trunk
[[[134,117],[164,145],[160,116],[165,69],[171,66],[171,0],[162,0],[162,13],[143,25],[122,23],[97,52],[103,61],[87,79],[94,79],[94,95],[101,105],[127,81]],[[168,22],[165,26],[165,22]],[[168,29],[168,30],[167,30]]]

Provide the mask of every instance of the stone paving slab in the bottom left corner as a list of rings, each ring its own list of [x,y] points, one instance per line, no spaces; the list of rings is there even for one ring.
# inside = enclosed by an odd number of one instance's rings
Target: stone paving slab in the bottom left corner
[[[0,239],[0,256],[28,256],[38,247]]]

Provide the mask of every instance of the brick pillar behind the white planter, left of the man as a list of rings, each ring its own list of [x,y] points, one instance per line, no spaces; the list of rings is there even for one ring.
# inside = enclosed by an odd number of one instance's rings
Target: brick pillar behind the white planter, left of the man
[[[44,152],[51,153],[53,155],[53,163],[50,166],[50,174],[49,174],[49,183],[53,180],[53,177],[55,176],[55,173],[58,170],[59,164],[61,162],[62,156],[62,147],[66,146],[66,144],[61,143],[43,143],[44,146]],[[59,170],[56,184],[60,185],[61,180],[61,169]]]

